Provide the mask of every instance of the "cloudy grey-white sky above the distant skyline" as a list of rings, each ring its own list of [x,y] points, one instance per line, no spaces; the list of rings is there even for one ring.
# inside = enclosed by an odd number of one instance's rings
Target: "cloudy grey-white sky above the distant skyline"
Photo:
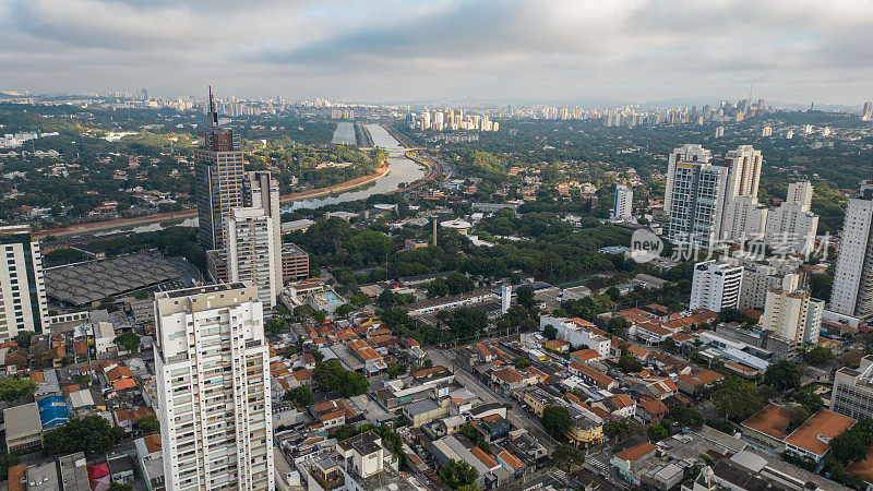
[[[873,99],[870,0],[0,0],[0,88]]]

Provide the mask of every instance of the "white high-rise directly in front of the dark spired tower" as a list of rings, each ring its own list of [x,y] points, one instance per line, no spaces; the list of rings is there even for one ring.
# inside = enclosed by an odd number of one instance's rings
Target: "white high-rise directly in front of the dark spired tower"
[[[225,220],[227,278],[254,286],[267,311],[282,291],[282,251],[276,250],[274,225],[272,217],[254,207],[234,208]]]

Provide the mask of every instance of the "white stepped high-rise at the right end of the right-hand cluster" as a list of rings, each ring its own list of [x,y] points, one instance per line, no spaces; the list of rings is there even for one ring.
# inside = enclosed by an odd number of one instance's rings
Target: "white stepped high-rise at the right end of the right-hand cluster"
[[[791,183],[786,201],[767,213],[764,242],[777,254],[805,254],[815,247],[818,215],[810,212],[812,194],[809,182]]]

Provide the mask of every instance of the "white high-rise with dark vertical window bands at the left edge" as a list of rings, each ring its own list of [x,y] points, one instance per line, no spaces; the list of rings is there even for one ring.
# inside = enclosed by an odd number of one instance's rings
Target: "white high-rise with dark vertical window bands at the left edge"
[[[0,343],[48,327],[39,242],[27,225],[0,227]]]

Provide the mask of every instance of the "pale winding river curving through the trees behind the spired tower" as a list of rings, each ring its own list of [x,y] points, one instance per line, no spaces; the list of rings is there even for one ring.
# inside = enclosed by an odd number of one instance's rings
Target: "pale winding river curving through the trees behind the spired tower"
[[[355,188],[350,191],[322,197],[313,197],[311,200],[295,201],[292,204],[284,206],[282,208],[283,213],[298,208],[318,208],[328,204],[366,200],[373,194],[394,191],[400,188],[400,184],[408,184],[427,175],[427,169],[424,167],[421,167],[404,156],[400,142],[388,134],[384,128],[380,124],[367,124],[367,129],[370,130],[370,136],[372,136],[375,146],[385,148],[388,152],[388,173],[378,179],[375,182]],[[340,122],[336,125],[332,142],[337,143],[337,140],[347,137],[349,131],[351,132],[351,141],[354,142],[355,129],[352,124],[350,122]]]

